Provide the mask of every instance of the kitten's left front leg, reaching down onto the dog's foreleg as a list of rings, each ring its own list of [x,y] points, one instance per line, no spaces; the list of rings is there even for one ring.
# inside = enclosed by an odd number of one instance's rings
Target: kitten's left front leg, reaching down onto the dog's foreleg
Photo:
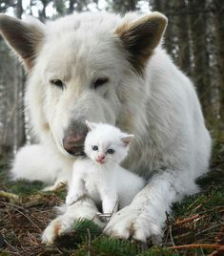
[[[66,197],[66,203],[72,204],[76,202],[78,199],[84,196],[84,192],[85,192],[84,181],[80,177],[74,175],[72,177],[68,195]]]

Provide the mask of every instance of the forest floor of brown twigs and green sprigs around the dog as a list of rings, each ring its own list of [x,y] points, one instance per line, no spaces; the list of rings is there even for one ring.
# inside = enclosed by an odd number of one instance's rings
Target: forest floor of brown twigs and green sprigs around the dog
[[[198,180],[202,191],[173,205],[163,244],[153,247],[108,238],[90,221],[74,224],[55,245],[42,245],[41,233],[66,191],[47,193],[41,182],[12,182],[8,169],[6,159],[0,160],[0,255],[224,255],[224,141],[214,143],[211,171]]]

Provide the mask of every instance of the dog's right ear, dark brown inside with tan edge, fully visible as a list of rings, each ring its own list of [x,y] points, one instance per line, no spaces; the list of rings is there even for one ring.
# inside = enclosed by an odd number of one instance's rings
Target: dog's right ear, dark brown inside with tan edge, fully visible
[[[159,44],[166,26],[167,17],[154,11],[136,21],[126,21],[115,30],[130,54],[132,66],[140,75],[143,75],[145,64]]]

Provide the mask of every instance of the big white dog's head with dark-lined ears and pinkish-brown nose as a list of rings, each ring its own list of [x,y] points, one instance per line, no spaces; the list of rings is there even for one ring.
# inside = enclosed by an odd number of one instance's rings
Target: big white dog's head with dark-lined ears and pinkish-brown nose
[[[0,32],[28,72],[26,102],[40,138],[76,155],[86,119],[133,133],[144,115],[146,65],[166,24],[159,12],[82,13],[46,25],[0,14]]]

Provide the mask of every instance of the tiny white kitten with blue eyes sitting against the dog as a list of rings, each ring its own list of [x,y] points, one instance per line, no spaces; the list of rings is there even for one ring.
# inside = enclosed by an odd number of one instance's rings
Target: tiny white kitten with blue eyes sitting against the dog
[[[103,213],[112,214],[117,204],[124,207],[145,185],[145,181],[122,168],[119,163],[128,155],[133,135],[103,123],[87,122],[90,132],[85,140],[88,158],[73,164],[66,203],[76,202],[84,195],[95,203],[102,202]]]

